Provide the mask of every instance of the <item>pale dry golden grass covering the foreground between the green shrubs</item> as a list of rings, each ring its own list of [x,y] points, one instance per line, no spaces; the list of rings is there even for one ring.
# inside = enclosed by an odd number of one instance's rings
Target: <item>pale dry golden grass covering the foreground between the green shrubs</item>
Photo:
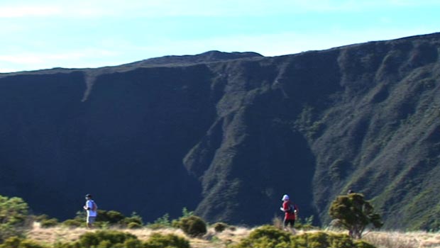
[[[189,239],[192,248],[224,248],[227,244],[237,243],[240,239],[247,237],[252,231],[251,228],[236,227],[233,230],[225,230],[216,233],[209,228],[207,235],[203,238],[187,237],[181,230],[177,229],[160,229],[151,230],[143,228],[139,230],[119,229],[122,232],[129,232],[136,235],[138,239],[146,240],[153,232],[162,234],[172,233]],[[35,223],[28,238],[33,239],[40,244],[53,244],[55,242],[72,242],[75,241],[84,232],[94,232],[85,228],[65,228],[50,227],[41,228]],[[301,234],[303,231],[297,231]],[[316,231],[309,231],[316,232]],[[369,232],[364,235],[363,239],[378,248],[440,248],[440,233],[431,232]]]

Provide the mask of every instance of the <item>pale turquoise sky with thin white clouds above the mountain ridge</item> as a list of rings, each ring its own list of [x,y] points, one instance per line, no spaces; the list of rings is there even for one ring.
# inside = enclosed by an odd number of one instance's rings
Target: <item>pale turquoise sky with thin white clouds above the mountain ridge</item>
[[[0,72],[209,50],[265,56],[440,32],[440,0],[0,0]]]

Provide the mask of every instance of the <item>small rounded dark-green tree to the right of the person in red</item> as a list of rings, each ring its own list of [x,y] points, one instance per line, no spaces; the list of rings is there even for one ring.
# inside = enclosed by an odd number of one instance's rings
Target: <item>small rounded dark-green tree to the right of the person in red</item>
[[[373,205],[365,201],[360,193],[338,196],[331,203],[329,215],[338,220],[351,237],[358,239],[368,225],[372,224],[375,228],[383,225],[380,215],[374,212]]]

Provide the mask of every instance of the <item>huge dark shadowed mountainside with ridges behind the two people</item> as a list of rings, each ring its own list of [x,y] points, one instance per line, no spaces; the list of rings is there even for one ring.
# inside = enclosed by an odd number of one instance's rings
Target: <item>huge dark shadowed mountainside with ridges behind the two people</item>
[[[437,33],[0,74],[0,194],[60,218],[92,193],[147,221],[187,207],[252,225],[284,193],[328,222],[352,189],[386,227],[437,228],[439,50]]]

